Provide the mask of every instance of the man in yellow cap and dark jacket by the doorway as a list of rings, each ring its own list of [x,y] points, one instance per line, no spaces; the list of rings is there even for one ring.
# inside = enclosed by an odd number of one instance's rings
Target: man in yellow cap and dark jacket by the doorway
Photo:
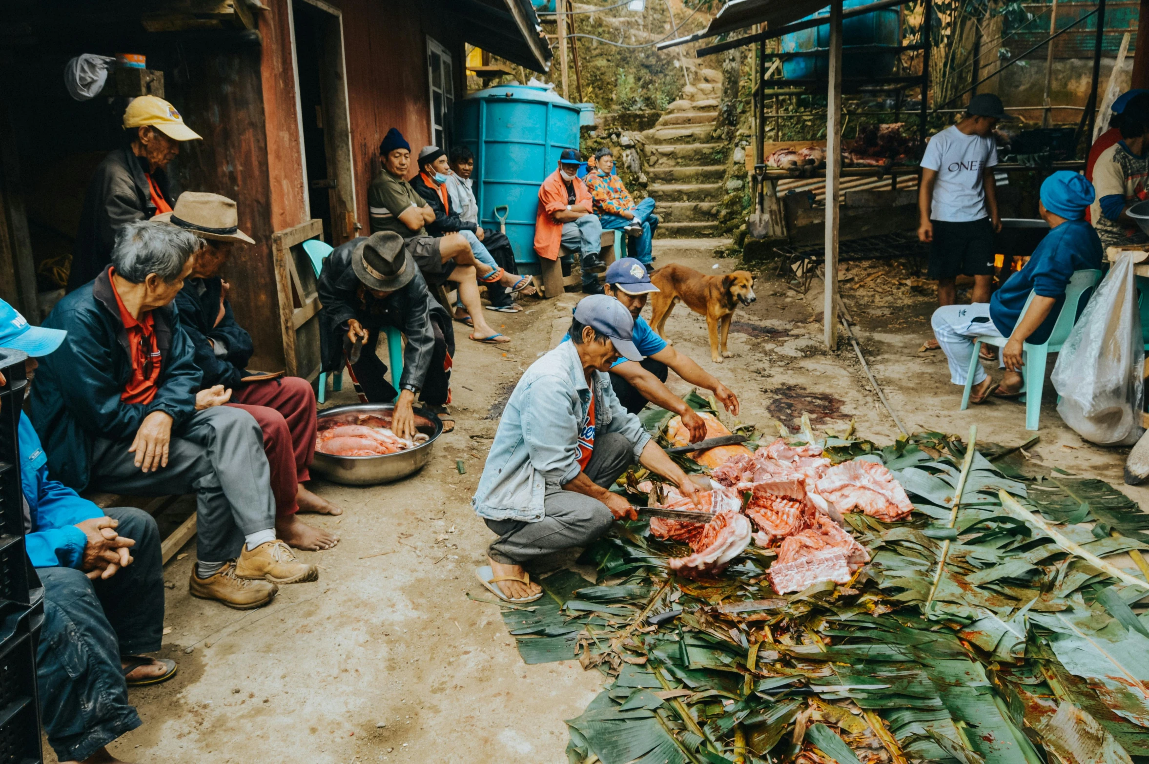
[[[100,162],[87,184],[69,292],[108,269],[121,225],[171,211],[179,193],[168,177],[168,163],[179,154],[182,141],[200,139],[176,107],[155,95],[141,95],[128,105],[124,137],[125,145]]]

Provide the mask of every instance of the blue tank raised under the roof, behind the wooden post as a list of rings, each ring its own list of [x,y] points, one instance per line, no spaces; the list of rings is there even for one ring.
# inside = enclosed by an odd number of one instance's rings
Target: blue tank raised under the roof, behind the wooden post
[[[843,0],[842,9],[849,10],[867,6],[873,0]],[[823,8],[807,18],[820,18],[830,15],[830,8]],[[842,21],[842,71],[847,77],[873,78],[888,77],[894,74],[897,62],[900,30],[897,9],[887,8],[873,13],[846,18]],[[781,52],[825,51],[830,48],[830,25],[803,29],[799,32],[784,34]],[[888,45],[889,53],[850,53],[850,47],[858,45]],[[830,75],[828,54],[795,56],[782,62],[782,77],[786,79],[823,78]]]

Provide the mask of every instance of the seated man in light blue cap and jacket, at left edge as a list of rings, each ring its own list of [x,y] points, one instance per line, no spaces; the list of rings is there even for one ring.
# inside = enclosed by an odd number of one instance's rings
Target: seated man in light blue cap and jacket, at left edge
[[[28,355],[29,385],[36,358],[65,334],[30,326],[0,300],[0,347]],[[51,479],[24,412],[18,439],[24,541],[44,585],[37,687],[48,742],[61,762],[114,762],[105,746],[140,726],[128,687],[176,674],[175,662],[145,655],[160,649],[163,632],[160,531],[141,509],[100,509]]]

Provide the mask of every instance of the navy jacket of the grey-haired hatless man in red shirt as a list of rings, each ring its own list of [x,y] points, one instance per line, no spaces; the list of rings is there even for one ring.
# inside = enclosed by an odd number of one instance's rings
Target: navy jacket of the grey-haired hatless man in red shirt
[[[130,442],[152,411],[169,414],[172,434],[178,435],[195,414],[202,378],[195,348],[175,304],[169,304],[153,311],[160,350],[155,398],[147,404],[119,400],[132,364],[109,271],[68,294],[44,321],[68,337],[40,358],[32,385],[32,424],[48,454],[48,472],[76,491],[87,487],[97,438]]]

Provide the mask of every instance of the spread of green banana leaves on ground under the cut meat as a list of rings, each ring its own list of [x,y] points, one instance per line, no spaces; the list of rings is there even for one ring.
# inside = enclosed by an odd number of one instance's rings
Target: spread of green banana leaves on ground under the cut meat
[[[1149,763],[1149,515],[981,443],[950,525],[962,440],[803,430],[792,442],[880,461],[915,503],[901,523],[845,516],[872,557],[849,584],[779,596],[753,546],[714,580],[677,578],[666,560],[687,548],[627,522],[579,560],[597,585],[563,570],[504,608],[526,663],[607,677],[566,721],[572,764]],[[1119,576],[1097,560],[1113,555]]]

